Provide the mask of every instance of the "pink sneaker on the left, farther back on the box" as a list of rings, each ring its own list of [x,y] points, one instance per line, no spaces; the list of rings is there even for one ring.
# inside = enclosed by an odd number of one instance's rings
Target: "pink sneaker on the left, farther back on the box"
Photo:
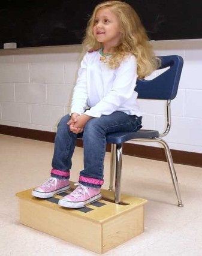
[[[64,192],[70,188],[70,181],[68,179],[57,179],[55,177],[50,177],[46,182],[44,182],[38,188],[32,191],[34,197],[49,198],[53,197],[60,192]]]

